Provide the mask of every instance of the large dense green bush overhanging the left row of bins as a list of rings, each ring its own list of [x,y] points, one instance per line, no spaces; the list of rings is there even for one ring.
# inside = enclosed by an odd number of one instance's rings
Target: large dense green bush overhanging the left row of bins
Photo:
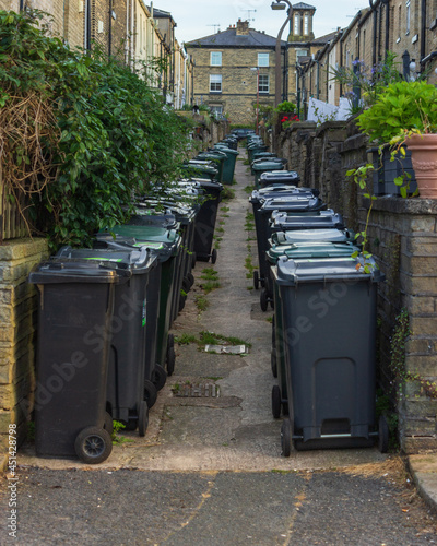
[[[32,199],[52,247],[84,245],[129,215],[133,192],[178,175],[190,127],[138,72],[72,51],[42,12],[0,12],[0,159],[12,199]]]

